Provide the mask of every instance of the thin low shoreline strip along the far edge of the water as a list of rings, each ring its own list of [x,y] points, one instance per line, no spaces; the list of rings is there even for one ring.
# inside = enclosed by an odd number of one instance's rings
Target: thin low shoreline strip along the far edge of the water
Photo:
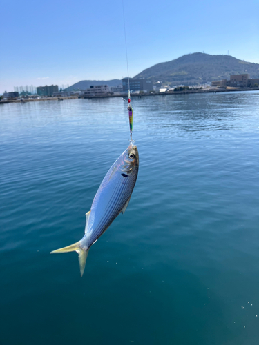
[[[172,92],[152,92],[152,93],[143,93],[132,95],[133,97],[141,98],[141,97],[148,97],[148,96],[167,96],[167,95],[185,95],[189,93],[218,93],[218,92],[240,92],[240,91],[259,91],[259,88],[231,88],[231,89],[202,89],[202,90],[183,90],[183,91],[172,91]],[[63,101],[66,99],[100,99],[100,98],[114,98],[114,97],[128,97],[128,94],[122,95],[102,95],[102,96],[68,96],[68,97],[46,97],[46,98],[39,98],[39,99],[23,99],[23,100],[8,100],[8,101],[0,101],[0,104],[5,103],[27,103],[27,102],[35,102],[35,101]]]

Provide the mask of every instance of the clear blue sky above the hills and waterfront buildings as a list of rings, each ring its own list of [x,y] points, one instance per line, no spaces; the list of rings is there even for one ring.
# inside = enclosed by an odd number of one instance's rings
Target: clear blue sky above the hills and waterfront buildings
[[[123,1],[130,77],[190,52],[259,63],[259,0]],[[122,4],[2,1],[0,94],[126,77]]]

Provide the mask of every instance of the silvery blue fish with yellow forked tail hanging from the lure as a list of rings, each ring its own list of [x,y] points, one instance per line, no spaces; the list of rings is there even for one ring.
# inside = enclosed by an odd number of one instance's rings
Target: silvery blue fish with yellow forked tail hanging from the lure
[[[90,211],[86,213],[84,237],[79,242],[52,250],[52,253],[77,252],[81,277],[84,274],[90,247],[108,229],[119,213],[124,213],[131,199],[139,170],[139,152],[130,142],[128,148],[113,163],[100,184]]]

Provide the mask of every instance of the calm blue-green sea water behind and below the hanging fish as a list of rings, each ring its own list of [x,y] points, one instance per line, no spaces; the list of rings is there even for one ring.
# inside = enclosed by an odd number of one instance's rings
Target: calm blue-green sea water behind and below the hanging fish
[[[1,106],[1,345],[259,344],[259,92],[133,108],[137,184],[81,278],[49,253],[83,236],[125,103]]]

